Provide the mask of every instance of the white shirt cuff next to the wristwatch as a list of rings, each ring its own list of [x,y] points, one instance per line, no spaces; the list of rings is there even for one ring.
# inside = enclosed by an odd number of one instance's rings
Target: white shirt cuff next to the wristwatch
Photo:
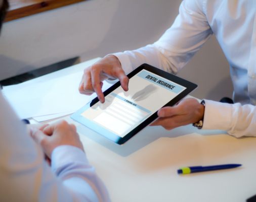
[[[204,99],[204,118],[202,129],[229,130],[232,127],[232,105]]]

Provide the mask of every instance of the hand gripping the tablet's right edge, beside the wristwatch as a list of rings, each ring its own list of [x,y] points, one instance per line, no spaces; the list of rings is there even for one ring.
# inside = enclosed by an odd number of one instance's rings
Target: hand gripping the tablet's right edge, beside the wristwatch
[[[171,130],[179,126],[196,123],[202,120],[204,106],[194,98],[181,100],[174,107],[164,107],[157,112],[158,119],[151,126],[162,126],[166,130]]]

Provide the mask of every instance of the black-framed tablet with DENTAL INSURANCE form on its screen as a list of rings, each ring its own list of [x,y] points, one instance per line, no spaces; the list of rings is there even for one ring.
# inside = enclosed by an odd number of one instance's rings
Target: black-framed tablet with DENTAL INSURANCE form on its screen
[[[117,144],[123,144],[157,118],[157,111],[174,106],[197,85],[148,64],[127,75],[129,90],[118,81],[71,118]]]

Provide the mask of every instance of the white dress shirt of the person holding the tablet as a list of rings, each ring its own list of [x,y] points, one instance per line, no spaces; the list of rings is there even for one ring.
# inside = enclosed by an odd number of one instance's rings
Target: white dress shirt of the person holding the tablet
[[[236,137],[256,136],[255,0],[184,0],[174,24],[158,41],[113,55],[125,73],[143,63],[177,73],[211,34],[216,35],[230,64],[234,101],[253,106],[206,100],[203,129],[224,129]]]

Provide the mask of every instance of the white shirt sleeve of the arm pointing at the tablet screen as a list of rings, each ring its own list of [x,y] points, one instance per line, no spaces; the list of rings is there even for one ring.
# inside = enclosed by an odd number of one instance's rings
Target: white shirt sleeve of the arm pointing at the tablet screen
[[[204,1],[184,0],[173,25],[158,41],[134,51],[115,53],[128,74],[143,63],[177,73],[210,37]]]

